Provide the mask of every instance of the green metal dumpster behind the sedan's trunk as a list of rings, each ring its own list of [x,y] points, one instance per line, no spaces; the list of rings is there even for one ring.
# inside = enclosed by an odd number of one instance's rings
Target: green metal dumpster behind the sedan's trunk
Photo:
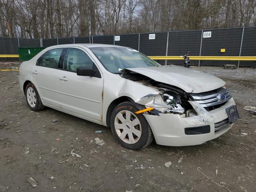
[[[19,60],[28,61],[46,47],[19,47]]]

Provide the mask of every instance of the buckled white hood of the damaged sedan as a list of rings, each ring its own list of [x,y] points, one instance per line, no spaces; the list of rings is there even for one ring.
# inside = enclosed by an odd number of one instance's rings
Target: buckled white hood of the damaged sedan
[[[127,68],[127,70],[137,72],[158,82],[179,87],[188,93],[211,91],[226,84],[212,74],[175,65]]]

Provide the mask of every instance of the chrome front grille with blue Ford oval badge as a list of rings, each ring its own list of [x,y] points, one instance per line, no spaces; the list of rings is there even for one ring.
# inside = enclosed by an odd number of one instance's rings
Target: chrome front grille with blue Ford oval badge
[[[210,92],[190,94],[192,98],[202,105],[202,107],[210,107],[227,102],[232,98],[225,88],[219,88]]]

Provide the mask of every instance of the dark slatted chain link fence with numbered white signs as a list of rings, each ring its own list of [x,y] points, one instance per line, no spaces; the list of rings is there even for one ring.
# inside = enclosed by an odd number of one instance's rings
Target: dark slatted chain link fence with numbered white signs
[[[146,56],[181,56],[188,51],[190,51],[190,56],[256,56],[256,26],[52,39],[0,37],[0,54],[18,54],[18,47],[48,47],[74,43],[127,46]],[[225,52],[221,52],[221,49],[225,49]],[[183,61],[162,60],[160,64],[182,65]],[[224,64],[239,64],[239,66],[244,67],[256,66],[255,61],[191,61],[191,64],[200,64],[200,66],[223,66]]]

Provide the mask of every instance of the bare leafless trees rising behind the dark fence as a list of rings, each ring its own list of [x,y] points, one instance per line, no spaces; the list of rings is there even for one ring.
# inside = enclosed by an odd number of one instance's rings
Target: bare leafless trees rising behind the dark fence
[[[256,26],[256,0],[0,0],[0,36],[56,38]]]

